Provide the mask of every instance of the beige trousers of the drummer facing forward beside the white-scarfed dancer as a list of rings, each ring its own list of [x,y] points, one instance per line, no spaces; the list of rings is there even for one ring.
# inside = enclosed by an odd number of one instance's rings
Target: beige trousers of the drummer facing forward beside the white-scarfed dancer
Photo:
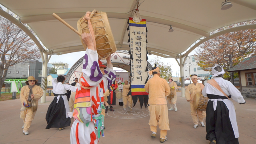
[[[205,111],[199,111],[195,109],[192,102],[190,102],[190,110],[191,110],[191,117],[193,119],[194,124],[198,124],[198,119],[199,119],[199,122],[204,122],[204,118],[206,117]]]

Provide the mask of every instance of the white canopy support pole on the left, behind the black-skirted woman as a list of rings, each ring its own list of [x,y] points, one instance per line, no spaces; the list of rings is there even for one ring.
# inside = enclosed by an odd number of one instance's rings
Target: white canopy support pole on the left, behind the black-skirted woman
[[[46,102],[46,89],[47,89],[47,64],[48,64],[48,55],[44,53],[44,64],[42,71],[42,80],[41,80],[41,88],[44,91],[44,95],[41,97],[41,103]]]

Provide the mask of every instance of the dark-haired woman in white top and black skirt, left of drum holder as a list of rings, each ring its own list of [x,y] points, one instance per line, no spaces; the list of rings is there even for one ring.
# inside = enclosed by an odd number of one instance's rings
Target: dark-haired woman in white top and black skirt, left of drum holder
[[[70,117],[68,116],[69,106],[67,98],[67,90],[76,92],[76,87],[68,84],[63,84],[64,76],[58,76],[52,79],[54,99],[50,104],[46,113],[46,129],[59,128],[63,130],[65,127],[70,126]]]

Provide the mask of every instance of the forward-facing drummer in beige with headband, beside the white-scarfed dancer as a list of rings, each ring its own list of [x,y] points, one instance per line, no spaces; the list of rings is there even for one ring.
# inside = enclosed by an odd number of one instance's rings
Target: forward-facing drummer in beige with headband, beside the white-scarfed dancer
[[[199,95],[202,95],[204,85],[197,82],[198,77],[196,74],[192,74],[190,77],[192,79],[193,84],[189,84],[188,87],[186,88],[185,97],[186,100],[190,102],[191,117],[194,122],[194,128],[198,127],[198,118],[201,126],[204,127],[204,118],[206,116],[206,112],[197,109],[200,98]]]

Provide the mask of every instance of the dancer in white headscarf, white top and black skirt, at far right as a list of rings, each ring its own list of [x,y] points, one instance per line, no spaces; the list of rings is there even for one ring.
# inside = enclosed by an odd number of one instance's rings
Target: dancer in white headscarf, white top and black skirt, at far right
[[[236,112],[232,101],[245,104],[240,91],[228,80],[225,71],[216,64],[212,67],[213,79],[208,80],[202,94],[208,97],[206,108],[206,140],[210,144],[239,144]]]

